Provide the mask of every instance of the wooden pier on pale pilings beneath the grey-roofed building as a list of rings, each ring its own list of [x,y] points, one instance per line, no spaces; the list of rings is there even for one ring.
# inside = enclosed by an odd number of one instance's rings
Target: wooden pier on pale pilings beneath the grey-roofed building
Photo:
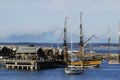
[[[17,70],[39,70],[54,68],[56,65],[53,61],[41,61],[41,60],[0,60],[0,63],[4,63],[7,69]]]

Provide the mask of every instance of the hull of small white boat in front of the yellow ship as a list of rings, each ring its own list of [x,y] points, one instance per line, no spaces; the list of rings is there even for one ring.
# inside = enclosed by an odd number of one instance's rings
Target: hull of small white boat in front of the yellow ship
[[[66,74],[81,74],[83,73],[83,68],[81,66],[67,66],[65,68]]]

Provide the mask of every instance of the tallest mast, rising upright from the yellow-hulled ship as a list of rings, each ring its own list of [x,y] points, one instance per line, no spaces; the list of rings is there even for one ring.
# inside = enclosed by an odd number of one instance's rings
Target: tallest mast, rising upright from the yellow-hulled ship
[[[80,58],[84,56],[84,43],[83,43],[83,32],[82,32],[82,12],[80,13]]]

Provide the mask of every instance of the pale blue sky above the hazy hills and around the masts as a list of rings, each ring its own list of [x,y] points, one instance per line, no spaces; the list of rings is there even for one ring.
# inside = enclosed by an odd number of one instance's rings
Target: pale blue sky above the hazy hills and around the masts
[[[91,42],[107,42],[110,27],[111,42],[118,43],[119,3],[120,0],[0,0],[0,41],[13,35],[38,36],[46,32],[58,38],[66,16],[68,32],[79,37],[82,12],[85,40],[95,34],[98,38]]]

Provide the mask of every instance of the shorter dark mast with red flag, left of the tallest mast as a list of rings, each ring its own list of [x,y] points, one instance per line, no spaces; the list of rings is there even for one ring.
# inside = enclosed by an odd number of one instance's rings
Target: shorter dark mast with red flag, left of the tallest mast
[[[65,23],[64,23],[64,61],[66,62],[68,60],[68,53],[67,53],[67,37],[66,37],[66,22],[67,17],[65,17]]]

